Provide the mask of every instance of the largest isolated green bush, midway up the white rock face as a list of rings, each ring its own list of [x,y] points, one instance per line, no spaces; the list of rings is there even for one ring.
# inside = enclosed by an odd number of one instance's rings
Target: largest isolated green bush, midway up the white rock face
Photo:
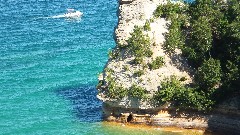
[[[134,62],[142,64],[144,57],[151,57],[150,38],[143,34],[142,28],[134,26],[131,37],[127,40],[128,51],[135,56]]]

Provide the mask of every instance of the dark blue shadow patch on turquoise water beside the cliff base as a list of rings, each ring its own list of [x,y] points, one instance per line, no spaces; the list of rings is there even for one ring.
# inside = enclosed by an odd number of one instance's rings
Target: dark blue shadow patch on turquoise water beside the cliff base
[[[55,92],[71,102],[72,113],[78,121],[102,121],[102,102],[96,97],[97,90],[94,85],[64,87]]]

